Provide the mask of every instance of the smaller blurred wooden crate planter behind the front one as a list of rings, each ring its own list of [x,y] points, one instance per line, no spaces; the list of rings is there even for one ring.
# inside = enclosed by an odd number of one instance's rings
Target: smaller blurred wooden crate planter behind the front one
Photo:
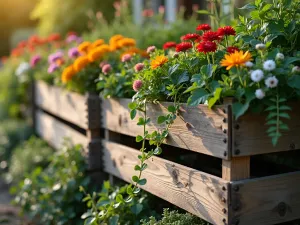
[[[35,83],[34,92],[37,133],[55,148],[61,146],[65,137],[74,144],[82,144],[88,156],[89,168],[100,169],[99,97],[72,93],[42,81]]]

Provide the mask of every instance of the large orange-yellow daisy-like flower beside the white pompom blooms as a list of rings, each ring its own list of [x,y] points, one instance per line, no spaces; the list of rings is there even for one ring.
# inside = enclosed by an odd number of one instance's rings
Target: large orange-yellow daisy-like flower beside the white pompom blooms
[[[245,53],[243,51],[235,51],[225,55],[225,58],[221,60],[221,66],[227,66],[226,70],[230,70],[234,66],[244,66],[248,61],[252,61],[252,56],[248,51]]]

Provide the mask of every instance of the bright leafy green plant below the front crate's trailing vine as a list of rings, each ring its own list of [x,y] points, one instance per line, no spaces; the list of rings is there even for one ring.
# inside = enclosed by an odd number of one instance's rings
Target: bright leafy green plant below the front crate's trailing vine
[[[88,207],[88,211],[81,216],[85,225],[138,225],[141,219],[155,214],[149,208],[146,193],[141,193],[132,201],[123,198],[124,194],[132,191],[131,185],[114,187],[109,181],[105,181],[99,193],[87,194],[84,188],[81,191],[86,195],[83,201]],[[125,201],[127,204],[122,204]]]

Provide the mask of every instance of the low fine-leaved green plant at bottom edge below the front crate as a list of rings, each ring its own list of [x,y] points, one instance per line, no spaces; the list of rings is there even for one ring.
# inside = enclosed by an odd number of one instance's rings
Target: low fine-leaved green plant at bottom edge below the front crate
[[[193,216],[189,213],[179,213],[178,211],[170,211],[164,209],[163,217],[161,220],[156,220],[151,217],[149,221],[143,220],[141,225],[209,225],[209,223]]]

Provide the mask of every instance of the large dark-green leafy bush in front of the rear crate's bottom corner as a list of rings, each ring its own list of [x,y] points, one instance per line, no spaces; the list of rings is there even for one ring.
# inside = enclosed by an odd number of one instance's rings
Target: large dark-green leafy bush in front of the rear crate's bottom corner
[[[79,187],[89,184],[81,151],[81,146],[66,144],[53,154],[47,168],[35,168],[12,189],[14,202],[31,219],[45,225],[81,224],[79,218],[85,207]]]

